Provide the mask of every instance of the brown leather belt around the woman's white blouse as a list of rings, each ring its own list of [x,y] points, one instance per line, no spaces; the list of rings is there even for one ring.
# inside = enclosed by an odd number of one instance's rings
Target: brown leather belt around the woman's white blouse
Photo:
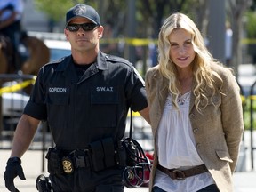
[[[161,172],[166,173],[170,178],[172,178],[172,180],[185,180],[187,177],[201,174],[203,172],[208,172],[204,164],[195,166],[188,170],[167,169],[160,164],[157,164],[157,169],[159,169]]]

